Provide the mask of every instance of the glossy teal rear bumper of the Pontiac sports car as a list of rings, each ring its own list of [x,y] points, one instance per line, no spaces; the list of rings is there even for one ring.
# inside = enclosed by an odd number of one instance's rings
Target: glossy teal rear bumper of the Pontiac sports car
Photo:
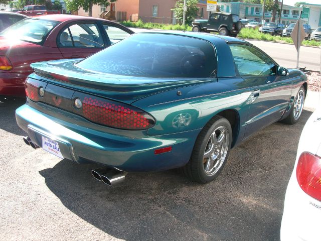
[[[184,166],[201,131],[129,138],[107,133],[108,128],[106,132],[100,132],[64,122],[28,104],[16,110],[16,119],[19,127],[40,147],[44,136],[59,143],[66,159],[100,163],[127,172],[161,171]],[[154,154],[154,150],[170,146],[171,152]]]

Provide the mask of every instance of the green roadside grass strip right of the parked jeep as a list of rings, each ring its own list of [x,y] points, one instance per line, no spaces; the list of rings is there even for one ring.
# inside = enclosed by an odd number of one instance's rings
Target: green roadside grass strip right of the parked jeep
[[[258,29],[243,28],[241,29],[237,37],[245,38],[245,39],[258,39],[258,40],[267,40],[267,41],[273,41],[273,42],[293,44],[293,41],[290,37],[272,36],[270,34],[261,33],[259,32]],[[320,42],[317,42],[315,40],[311,40],[311,41],[303,40],[302,45],[318,47],[320,46]]]

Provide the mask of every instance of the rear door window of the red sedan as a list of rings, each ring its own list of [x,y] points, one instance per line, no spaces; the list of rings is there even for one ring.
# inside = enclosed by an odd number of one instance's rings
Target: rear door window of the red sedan
[[[69,29],[69,30],[68,30]],[[71,36],[70,36],[70,33]],[[95,24],[74,24],[58,37],[60,47],[103,48],[104,42]]]

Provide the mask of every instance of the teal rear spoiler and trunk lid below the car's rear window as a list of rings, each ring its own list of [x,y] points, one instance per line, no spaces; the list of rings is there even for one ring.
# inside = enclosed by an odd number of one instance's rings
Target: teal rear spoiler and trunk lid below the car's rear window
[[[31,64],[31,67],[35,74],[45,77],[48,82],[71,84],[76,89],[126,103],[170,89],[217,81],[214,78],[145,78],[99,73],[77,67],[75,64],[79,60],[38,62]],[[30,77],[39,79],[33,74]]]

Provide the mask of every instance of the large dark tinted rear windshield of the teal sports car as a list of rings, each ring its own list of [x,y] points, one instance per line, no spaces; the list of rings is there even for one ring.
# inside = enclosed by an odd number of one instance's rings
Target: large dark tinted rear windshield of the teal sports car
[[[213,46],[186,36],[132,35],[76,64],[108,74],[139,77],[211,77],[216,66]]]

